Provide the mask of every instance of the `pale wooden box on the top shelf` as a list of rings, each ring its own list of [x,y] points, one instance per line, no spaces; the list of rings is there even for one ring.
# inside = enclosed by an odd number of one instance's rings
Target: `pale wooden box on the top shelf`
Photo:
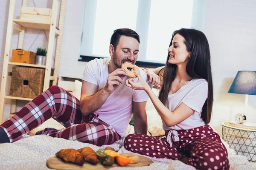
[[[38,23],[51,23],[52,9],[50,8],[35,8],[22,6],[20,10],[20,20],[26,20]]]

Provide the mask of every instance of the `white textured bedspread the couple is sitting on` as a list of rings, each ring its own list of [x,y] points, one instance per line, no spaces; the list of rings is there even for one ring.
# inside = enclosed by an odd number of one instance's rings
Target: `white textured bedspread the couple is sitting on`
[[[49,127],[49,124],[47,125]],[[41,126],[44,128],[44,125]],[[61,128],[59,127],[56,127]],[[249,163],[245,156],[237,155],[235,150],[230,149],[226,142],[223,142],[227,147],[228,158],[230,161],[231,170],[255,170],[256,163]],[[66,139],[52,138],[45,135],[24,136],[14,143],[0,144],[0,169],[1,170],[49,170],[46,166],[46,161],[55,153],[64,148],[75,148],[89,146],[93,150],[98,150],[100,147],[85,144]],[[105,148],[102,146],[102,148]],[[111,144],[118,153],[129,153],[123,147],[123,139]],[[145,156],[147,157],[147,156]],[[149,167],[115,167],[112,170],[195,170],[194,167],[183,164],[181,161],[173,161],[169,159],[153,159],[154,163]]]

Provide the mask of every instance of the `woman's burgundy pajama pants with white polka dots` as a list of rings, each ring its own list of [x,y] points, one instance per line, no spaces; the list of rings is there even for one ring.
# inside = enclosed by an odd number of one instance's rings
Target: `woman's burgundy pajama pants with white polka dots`
[[[166,131],[166,136],[169,130]],[[131,134],[125,138],[125,149],[152,158],[180,160],[189,157],[187,164],[200,170],[228,170],[227,149],[218,133],[209,125],[177,130],[179,141],[170,147],[166,138]]]

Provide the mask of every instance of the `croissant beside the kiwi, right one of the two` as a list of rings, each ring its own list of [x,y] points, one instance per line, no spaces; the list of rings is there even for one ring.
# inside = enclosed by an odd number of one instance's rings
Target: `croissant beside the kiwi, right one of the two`
[[[83,148],[79,149],[78,151],[84,157],[84,161],[86,161],[90,164],[97,164],[98,163],[96,152],[92,148],[83,147]]]

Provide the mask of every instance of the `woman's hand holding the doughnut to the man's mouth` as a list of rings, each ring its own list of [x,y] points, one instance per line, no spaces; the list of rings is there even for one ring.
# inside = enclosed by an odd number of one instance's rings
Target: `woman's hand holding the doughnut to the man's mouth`
[[[135,90],[146,90],[147,88],[150,88],[148,83],[142,77],[140,77],[140,74],[138,74],[137,72],[134,72],[134,74],[136,77],[138,77],[138,81],[134,83],[134,78],[127,79],[126,85],[128,87],[133,88]]]

